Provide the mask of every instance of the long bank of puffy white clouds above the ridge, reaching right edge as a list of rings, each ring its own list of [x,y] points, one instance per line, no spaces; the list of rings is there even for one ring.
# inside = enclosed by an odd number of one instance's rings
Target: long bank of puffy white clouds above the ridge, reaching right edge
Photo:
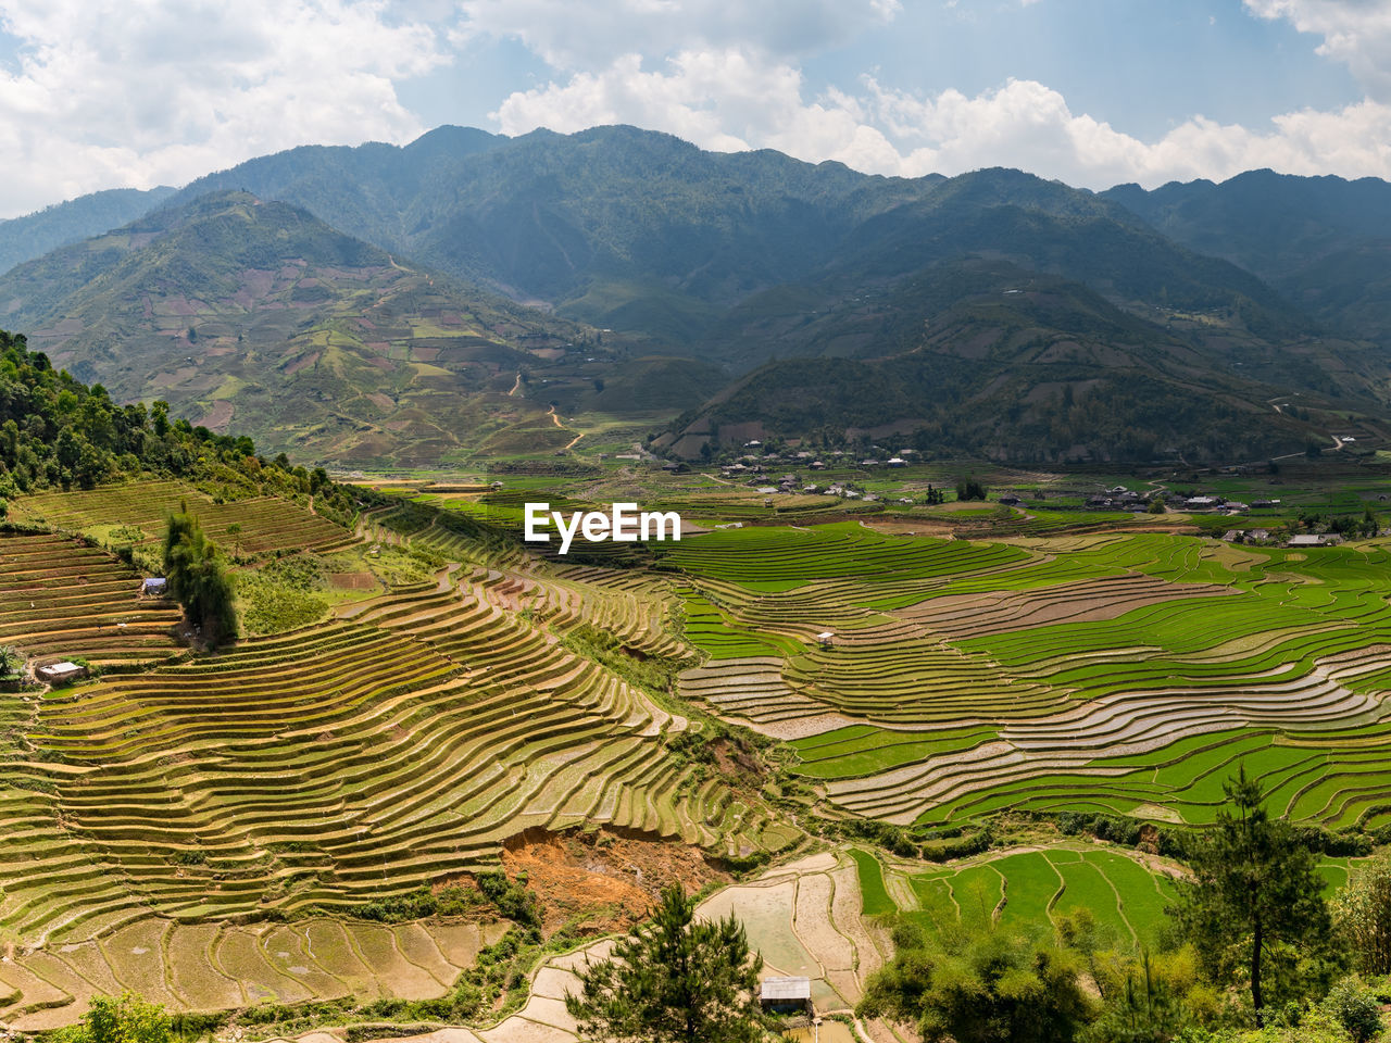
[[[1289,113],[1263,132],[1195,117],[1143,142],[1072,113],[1057,90],[1035,81],[1011,79],[974,97],[957,90],[924,97],[867,78],[858,93],[808,99],[794,65],[739,49],[687,50],[658,68],[629,54],[605,70],[516,92],[494,118],[513,135],[630,122],[707,149],[771,147],[874,174],[1004,165],[1097,189],[1221,179],[1259,167],[1391,177],[1391,107],[1376,102]]]

